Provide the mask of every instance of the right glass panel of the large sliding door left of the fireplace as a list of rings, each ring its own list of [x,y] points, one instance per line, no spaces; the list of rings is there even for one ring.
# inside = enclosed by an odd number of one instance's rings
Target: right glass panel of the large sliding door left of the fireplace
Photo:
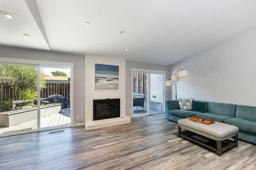
[[[40,128],[70,126],[70,68],[40,68],[46,88],[40,92]]]

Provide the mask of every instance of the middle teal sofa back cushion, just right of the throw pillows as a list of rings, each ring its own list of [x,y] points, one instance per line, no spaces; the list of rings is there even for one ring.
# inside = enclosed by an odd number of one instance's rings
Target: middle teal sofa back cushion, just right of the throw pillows
[[[236,104],[209,102],[207,112],[216,115],[235,117]]]

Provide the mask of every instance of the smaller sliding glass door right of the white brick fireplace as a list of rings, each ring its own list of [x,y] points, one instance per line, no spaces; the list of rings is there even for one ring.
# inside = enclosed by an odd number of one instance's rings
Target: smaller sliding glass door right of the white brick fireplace
[[[133,116],[163,113],[164,71],[132,70]]]

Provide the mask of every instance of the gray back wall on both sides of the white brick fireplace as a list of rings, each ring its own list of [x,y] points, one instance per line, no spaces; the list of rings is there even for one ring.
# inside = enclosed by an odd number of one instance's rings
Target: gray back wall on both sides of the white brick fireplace
[[[74,124],[84,123],[84,55],[0,46],[0,57],[74,63]],[[170,78],[170,66],[126,61],[126,116],[132,115],[129,110],[132,108],[132,68],[165,70],[166,80]],[[166,90],[166,99],[170,99],[171,88]]]

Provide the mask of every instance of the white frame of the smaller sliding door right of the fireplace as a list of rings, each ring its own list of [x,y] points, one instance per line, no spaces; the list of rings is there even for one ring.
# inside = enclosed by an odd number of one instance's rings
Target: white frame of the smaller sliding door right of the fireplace
[[[131,94],[133,96],[133,88],[134,88],[134,82],[133,82],[133,76],[134,76],[134,72],[138,72],[138,73],[146,73],[146,74],[162,74],[163,75],[163,82],[162,82],[162,89],[163,89],[163,97],[162,97],[162,106],[163,106],[163,113],[165,113],[165,81],[166,81],[166,71],[164,70],[149,70],[149,69],[140,69],[140,68],[132,68],[132,81],[131,81]],[[149,78],[148,78],[149,81]],[[149,94],[150,95],[150,94]],[[133,108],[133,98],[131,98],[131,108]],[[149,101],[148,101],[148,108],[149,108]],[[151,115],[149,113],[147,113],[147,115]],[[133,109],[132,109],[132,117],[133,117]]]

